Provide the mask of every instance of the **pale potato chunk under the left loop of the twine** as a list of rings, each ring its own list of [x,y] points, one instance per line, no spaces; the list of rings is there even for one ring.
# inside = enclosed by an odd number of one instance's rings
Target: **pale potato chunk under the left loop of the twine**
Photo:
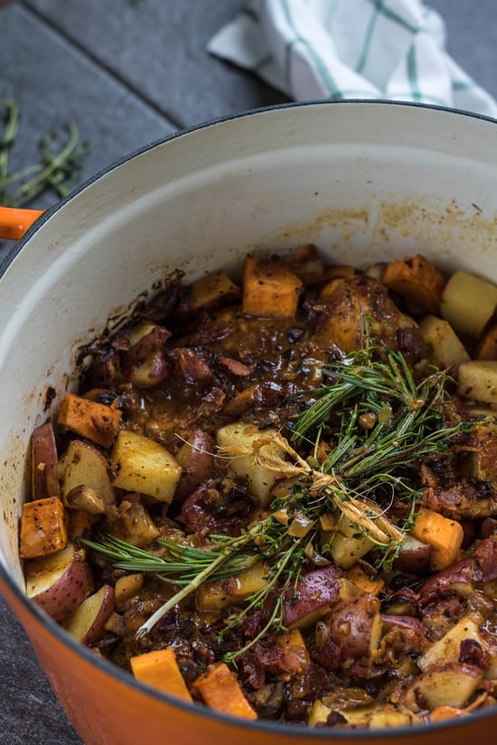
[[[245,422],[236,422],[221,427],[216,435],[218,447],[223,452],[230,454],[230,467],[238,476],[248,479],[248,490],[258,507],[266,508],[270,503],[272,495],[271,489],[275,480],[279,476],[277,471],[269,470],[262,463],[258,462],[257,446],[261,437],[268,438],[279,436],[277,430],[259,430],[254,424]],[[248,454],[237,454],[237,449],[247,452]],[[260,456],[278,456],[285,457],[285,451],[277,442],[267,442],[258,449]]]

